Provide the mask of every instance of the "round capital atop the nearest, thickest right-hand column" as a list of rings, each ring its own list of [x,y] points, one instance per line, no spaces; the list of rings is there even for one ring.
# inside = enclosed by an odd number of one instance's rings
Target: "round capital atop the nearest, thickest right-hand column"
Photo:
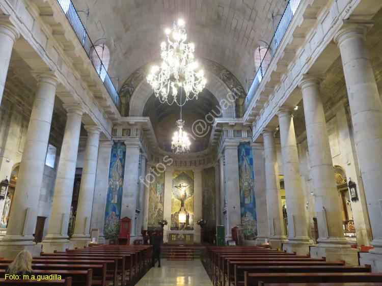
[[[344,26],[334,36],[334,42],[340,46],[341,43],[352,37],[360,37],[365,40],[367,27],[372,25],[373,21],[363,20],[345,20]]]

